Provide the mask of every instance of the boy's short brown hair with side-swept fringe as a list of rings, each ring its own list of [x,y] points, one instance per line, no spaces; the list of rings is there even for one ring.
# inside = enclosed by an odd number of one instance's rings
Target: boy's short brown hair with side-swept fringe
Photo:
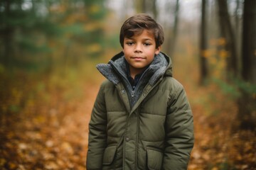
[[[151,32],[154,34],[156,48],[163,44],[163,28],[159,25],[159,23],[156,23],[151,16],[145,13],[139,13],[128,18],[127,21],[124,21],[119,35],[119,42],[121,46],[124,47],[124,38],[131,38],[134,34],[140,34],[144,29],[151,30]]]

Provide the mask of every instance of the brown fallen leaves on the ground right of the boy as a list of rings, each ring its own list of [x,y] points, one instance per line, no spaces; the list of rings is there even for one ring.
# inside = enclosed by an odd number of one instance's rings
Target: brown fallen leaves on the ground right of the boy
[[[218,102],[215,104],[216,101],[212,100],[208,103],[211,114],[203,103],[192,105],[196,143],[188,169],[255,169],[256,134],[250,130],[235,130],[236,103],[227,101],[225,95],[216,91],[202,88],[191,95],[193,101],[197,96],[203,98],[214,92]],[[214,108],[218,113],[213,112]]]

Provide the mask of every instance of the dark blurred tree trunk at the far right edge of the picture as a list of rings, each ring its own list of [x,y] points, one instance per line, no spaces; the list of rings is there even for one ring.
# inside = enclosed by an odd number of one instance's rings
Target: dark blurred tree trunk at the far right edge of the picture
[[[251,88],[243,86],[238,99],[240,128],[256,129],[256,1],[245,0],[242,30],[242,78]]]

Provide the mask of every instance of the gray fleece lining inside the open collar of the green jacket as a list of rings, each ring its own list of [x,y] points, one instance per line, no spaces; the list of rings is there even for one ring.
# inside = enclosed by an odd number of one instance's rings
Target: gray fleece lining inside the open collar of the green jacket
[[[168,64],[162,53],[156,55],[134,89],[134,97],[132,97],[132,86],[127,78],[127,64],[125,63],[124,55],[120,55],[116,60],[110,60],[108,64],[97,64],[97,69],[113,84],[118,84],[120,81],[124,83],[132,107],[139,99],[139,96],[141,96],[146,84],[154,86],[156,81],[163,77]]]

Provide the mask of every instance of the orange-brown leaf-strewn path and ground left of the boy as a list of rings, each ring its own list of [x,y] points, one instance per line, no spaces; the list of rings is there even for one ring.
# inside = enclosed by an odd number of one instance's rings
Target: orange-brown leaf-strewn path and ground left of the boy
[[[1,115],[0,169],[85,169],[88,123],[99,86],[85,84],[80,101]],[[60,91],[61,92],[61,91]],[[59,100],[59,101],[58,101]]]

